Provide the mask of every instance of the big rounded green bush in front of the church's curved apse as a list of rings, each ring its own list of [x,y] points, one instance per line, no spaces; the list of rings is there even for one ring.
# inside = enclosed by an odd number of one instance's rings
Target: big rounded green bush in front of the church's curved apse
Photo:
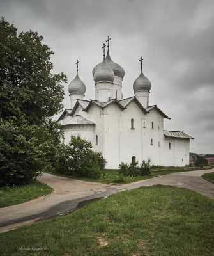
[[[69,144],[62,144],[58,149],[54,164],[55,172],[98,179],[100,177],[98,158],[91,148],[91,142],[82,139],[80,135],[72,134]]]

